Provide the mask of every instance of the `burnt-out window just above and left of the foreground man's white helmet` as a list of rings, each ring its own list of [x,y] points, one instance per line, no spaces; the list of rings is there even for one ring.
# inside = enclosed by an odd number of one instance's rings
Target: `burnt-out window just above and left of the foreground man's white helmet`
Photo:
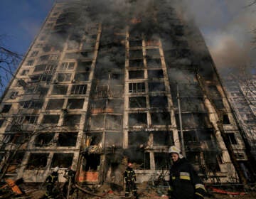
[[[174,145],[174,134],[172,131],[151,131],[154,146]]]

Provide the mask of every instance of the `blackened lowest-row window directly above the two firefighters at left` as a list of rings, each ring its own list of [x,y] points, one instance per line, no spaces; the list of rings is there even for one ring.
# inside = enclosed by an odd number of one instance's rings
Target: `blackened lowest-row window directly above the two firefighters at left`
[[[70,168],[73,162],[73,153],[55,153],[53,154],[53,159],[50,164],[51,168],[56,166],[60,168]]]

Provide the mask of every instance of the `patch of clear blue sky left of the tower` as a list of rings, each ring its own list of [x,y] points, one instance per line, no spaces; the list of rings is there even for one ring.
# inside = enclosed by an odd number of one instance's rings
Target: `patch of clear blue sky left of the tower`
[[[54,0],[0,0],[1,45],[25,54]]]

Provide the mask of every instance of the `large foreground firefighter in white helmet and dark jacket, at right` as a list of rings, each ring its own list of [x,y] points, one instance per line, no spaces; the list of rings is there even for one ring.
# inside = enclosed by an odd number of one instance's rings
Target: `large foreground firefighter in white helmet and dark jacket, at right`
[[[169,148],[173,165],[170,169],[169,198],[203,199],[206,189],[191,163],[176,146]]]

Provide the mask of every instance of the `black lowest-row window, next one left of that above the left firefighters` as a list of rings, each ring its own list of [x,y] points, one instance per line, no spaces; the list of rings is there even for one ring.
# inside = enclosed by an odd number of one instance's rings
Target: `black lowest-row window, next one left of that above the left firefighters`
[[[44,169],[47,165],[49,154],[47,153],[31,153],[28,158],[26,169]]]

